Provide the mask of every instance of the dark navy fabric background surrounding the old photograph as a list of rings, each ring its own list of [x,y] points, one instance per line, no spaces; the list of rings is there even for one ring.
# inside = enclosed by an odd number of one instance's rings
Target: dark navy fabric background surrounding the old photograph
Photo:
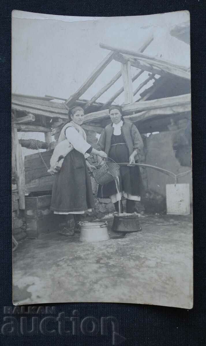
[[[205,9],[203,0],[163,1],[2,1],[1,2],[1,326],[3,306],[12,306],[11,252],[11,11],[24,10],[70,16],[130,16],[189,10],[191,19],[192,153],[194,182],[194,308],[192,310],[115,303],[56,304],[56,310],[71,316],[114,316],[120,323],[122,345],[205,345]],[[54,305],[54,304],[53,304]],[[111,345],[111,338],[97,336],[17,336],[5,337],[3,345]]]

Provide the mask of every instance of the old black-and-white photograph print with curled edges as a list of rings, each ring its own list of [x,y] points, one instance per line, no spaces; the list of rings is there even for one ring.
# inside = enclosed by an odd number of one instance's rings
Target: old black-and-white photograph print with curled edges
[[[14,305],[191,309],[188,11],[12,12]]]

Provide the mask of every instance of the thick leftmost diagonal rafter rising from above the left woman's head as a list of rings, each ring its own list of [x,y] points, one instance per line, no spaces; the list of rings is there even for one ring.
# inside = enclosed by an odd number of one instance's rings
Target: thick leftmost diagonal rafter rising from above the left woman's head
[[[110,52],[104,60],[96,67],[96,69],[90,74],[87,80],[80,86],[80,88],[71,95],[66,100],[66,105],[71,106],[75,100],[77,100],[84,92],[93,84],[93,82],[97,79],[97,77],[101,74],[101,72],[105,69],[105,67],[113,60],[113,52]]]

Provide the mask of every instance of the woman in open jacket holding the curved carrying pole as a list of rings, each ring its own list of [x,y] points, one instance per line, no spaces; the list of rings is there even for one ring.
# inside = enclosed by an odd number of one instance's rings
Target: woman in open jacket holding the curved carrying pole
[[[102,131],[98,141],[99,148],[117,163],[133,164],[137,162],[138,153],[143,149],[139,131],[134,124],[124,121],[120,106],[111,106],[109,114],[112,124],[107,125]],[[133,213],[135,201],[140,201],[142,192],[140,168],[138,166],[120,166],[119,193],[117,193],[115,181],[112,181],[104,186],[99,186],[98,197],[109,197],[114,203],[116,211],[120,213],[123,212],[122,199],[126,198],[126,212]]]

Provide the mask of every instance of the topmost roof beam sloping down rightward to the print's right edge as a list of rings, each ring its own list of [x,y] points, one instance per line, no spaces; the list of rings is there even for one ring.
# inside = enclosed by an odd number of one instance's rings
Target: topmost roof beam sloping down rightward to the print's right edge
[[[131,57],[135,58],[135,60],[138,59],[140,61],[149,63],[152,66],[159,67],[161,70],[165,72],[172,73],[182,78],[190,79],[190,73],[187,72],[188,67],[176,65],[171,61],[160,60],[153,56],[145,55],[140,52],[130,51],[124,48],[116,48],[116,47],[108,46],[101,43],[100,43],[100,47],[104,49],[109,49],[110,51],[113,51],[113,52],[131,55]]]

